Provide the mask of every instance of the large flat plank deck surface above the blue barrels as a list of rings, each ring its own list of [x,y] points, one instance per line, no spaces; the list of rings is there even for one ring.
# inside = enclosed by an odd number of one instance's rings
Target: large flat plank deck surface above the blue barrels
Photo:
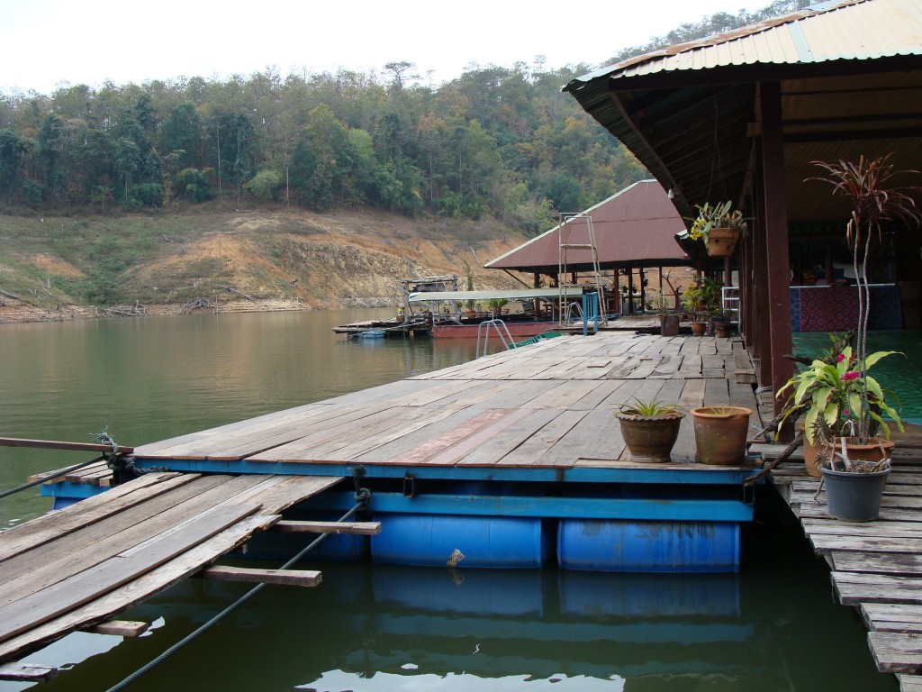
[[[245,459],[256,469],[261,463],[508,469],[624,465],[631,463],[630,455],[613,418],[622,403],[637,397],[674,401],[687,409],[735,404],[756,410],[752,374],[740,340],[625,332],[562,336],[137,447],[135,455],[150,464]],[[686,416],[672,458],[691,464],[694,457],[692,421]],[[700,464],[694,466],[701,471]]]

